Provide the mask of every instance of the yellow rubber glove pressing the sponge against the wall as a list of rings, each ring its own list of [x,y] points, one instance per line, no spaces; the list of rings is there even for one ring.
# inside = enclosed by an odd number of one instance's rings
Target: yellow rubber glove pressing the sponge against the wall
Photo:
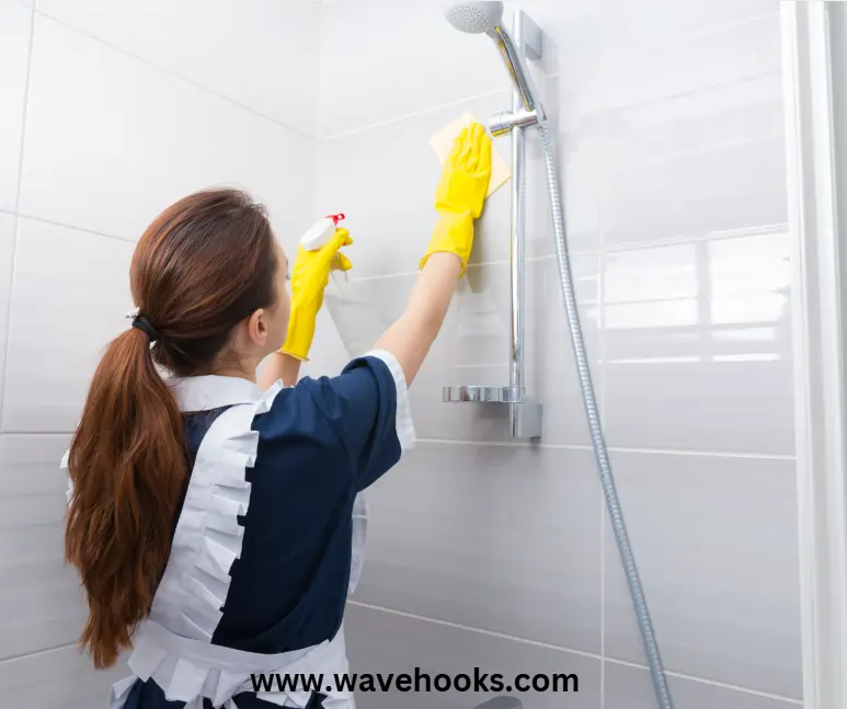
[[[435,225],[430,248],[421,260],[421,268],[430,255],[439,251],[455,253],[465,273],[473,245],[473,220],[482,213],[482,204],[491,178],[491,139],[478,123],[462,128],[444,161],[440,182],[435,190]]]

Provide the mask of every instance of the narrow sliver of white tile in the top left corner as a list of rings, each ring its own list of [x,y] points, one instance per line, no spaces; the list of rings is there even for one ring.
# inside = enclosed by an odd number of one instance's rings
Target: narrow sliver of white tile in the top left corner
[[[0,209],[15,209],[32,11],[0,0]]]

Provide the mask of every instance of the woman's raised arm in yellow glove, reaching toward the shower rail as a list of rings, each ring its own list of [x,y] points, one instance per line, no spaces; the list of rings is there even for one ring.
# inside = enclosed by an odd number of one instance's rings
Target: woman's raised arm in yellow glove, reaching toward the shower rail
[[[473,244],[473,221],[491,176],[491,139],[479,124],[465,128],[444,163],[435,192],[438,222],[421,260],[422,273],[400,319],[374,345],[391,353],[411,385],[447,316]]]

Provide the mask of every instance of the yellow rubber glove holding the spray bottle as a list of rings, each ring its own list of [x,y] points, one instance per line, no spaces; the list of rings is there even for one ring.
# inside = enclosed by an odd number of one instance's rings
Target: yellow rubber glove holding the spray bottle
[[[297,249],[291,273],[291,315],[288,334],[279,352],[297,359],[308,359],[314,339],[314,323],[323,305],[323,291],[331,271],[350,271],[353,264],[339,251],[353,243],[346,229],[336,229],[335,236],[317,251]]]

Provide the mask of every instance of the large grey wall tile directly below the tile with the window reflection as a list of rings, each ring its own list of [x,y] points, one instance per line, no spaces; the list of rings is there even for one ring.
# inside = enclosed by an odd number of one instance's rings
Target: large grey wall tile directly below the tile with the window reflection
[[[799,698],[794,462],[616,451],[611,464],[666,668]],[[605,628],[607,656],[645,664],[610,528]]]

